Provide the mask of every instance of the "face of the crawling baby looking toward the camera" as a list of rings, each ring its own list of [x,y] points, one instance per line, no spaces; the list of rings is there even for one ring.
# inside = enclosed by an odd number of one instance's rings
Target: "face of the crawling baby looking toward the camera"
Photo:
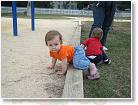
[[[47,45],[50,51],[58,52],[61,47],[59,36],[55,36],[52,40],[47,41]]]

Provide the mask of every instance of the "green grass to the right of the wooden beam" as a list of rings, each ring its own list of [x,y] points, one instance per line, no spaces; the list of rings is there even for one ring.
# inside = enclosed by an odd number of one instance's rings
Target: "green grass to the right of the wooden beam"
[[[90,25],[91,22],[83,23],[81,42],[88,37]],[[131,98],[131,23],[113,23],[107,43],[112,63],[97,65],[101,74],[97,81],[84,75],[84,97]]]

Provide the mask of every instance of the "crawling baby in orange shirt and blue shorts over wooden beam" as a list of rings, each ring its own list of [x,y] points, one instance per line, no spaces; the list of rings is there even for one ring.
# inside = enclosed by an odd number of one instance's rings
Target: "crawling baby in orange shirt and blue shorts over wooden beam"
[[[63,75],[67,71],[67,66],[73,63],[73,66],[81,70],[90,70],[88,79],[99,79],[100,75],[94,63],[91,63],[85,56],[85,51],[80,46],[72,47],[63,45],[62,35],[55,30],[46,33],[45,42],[50,50],[51,64],[48,69],[55,67],[56,61],[61,61],[61,70],[57,74]]]

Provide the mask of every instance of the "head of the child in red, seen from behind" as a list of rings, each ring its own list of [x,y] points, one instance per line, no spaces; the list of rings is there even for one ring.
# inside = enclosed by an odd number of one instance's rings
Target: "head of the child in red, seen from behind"
[[[94,28],[93,31],[92,31],[92,36],[91,37],[102,39],[103,30],[101,28],[98,28],[98,27]]]

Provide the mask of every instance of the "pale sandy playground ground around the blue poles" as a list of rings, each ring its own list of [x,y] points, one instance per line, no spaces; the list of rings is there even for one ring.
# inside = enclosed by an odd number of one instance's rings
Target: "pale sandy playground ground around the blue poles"
[[[2,98],[60,98],[65,76],[47,70],[50,62],[44,37],[58,30],[64,44],[72,42],[77,21],[18,19],[18,36],[12,32],[12,19],[1,18],[1,95]],[[75,39],[76,40],[76,39]],[[58,66],[57,66],[58,69]]]

